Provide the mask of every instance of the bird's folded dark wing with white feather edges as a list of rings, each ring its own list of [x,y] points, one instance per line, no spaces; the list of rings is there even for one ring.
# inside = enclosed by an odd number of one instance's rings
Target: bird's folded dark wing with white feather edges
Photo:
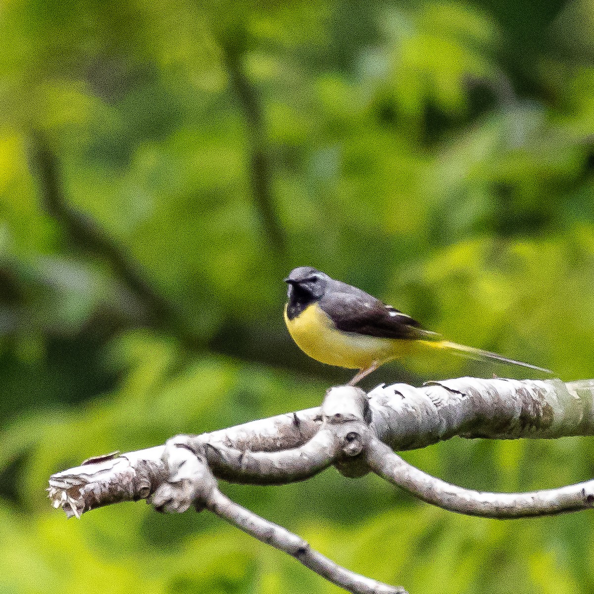
[[[328,292],[320,299],[320,308],[343,332],[380,338],[435,340],[438,334],[421,328],[418,321],[391,305],[361,291]]]

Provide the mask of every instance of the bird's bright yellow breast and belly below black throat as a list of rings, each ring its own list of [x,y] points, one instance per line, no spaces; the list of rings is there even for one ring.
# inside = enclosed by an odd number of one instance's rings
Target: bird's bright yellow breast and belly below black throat
[[[285,305],[285,323],[297,346],[312,359],[349,369],[364,369],[374,361],[388,361],[405,355],[412,340],[364,336],[337,330],[317,302],[289,320]]]

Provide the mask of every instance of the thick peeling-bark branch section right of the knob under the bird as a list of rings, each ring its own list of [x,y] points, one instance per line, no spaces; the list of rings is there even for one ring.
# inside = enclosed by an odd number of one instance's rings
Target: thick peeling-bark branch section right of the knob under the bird
[[[594,435],[594,381],[463,377],[378,386],[369,392],[371,429],[393,450],[465,438]]]

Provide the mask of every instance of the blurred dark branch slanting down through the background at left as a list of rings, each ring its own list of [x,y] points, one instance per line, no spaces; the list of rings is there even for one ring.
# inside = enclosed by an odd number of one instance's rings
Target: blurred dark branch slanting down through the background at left
[[[127,257],[91,217],[69,206],[64,196],[58,160],[45,138],[33,134],[29,152],[31,169],[37,173],[39,180],[43,207],[61,224],[70,241],[109,263],[119,280],[146,309],[152,326],[172,331],[184,346],[197,348],[198,341],[185,327],[181,315],[151,286],[138,264]]]

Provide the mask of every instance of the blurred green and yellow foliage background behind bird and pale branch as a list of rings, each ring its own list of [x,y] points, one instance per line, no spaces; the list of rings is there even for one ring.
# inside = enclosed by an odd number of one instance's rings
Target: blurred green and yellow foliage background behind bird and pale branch
[[[315,406],[349,371],[282,322],[294,266],[449,339],[594,377],[585,0],[0,7],[0,592],[339,592],[208,514],[67,521],[50,473]],[[525,370],[441,356],[368,378]],[[406,458],[487,490],[591,478],[592,442]],[[497,522],[380,479],[224,485],[410,592],[594,591],[592,513]]]

